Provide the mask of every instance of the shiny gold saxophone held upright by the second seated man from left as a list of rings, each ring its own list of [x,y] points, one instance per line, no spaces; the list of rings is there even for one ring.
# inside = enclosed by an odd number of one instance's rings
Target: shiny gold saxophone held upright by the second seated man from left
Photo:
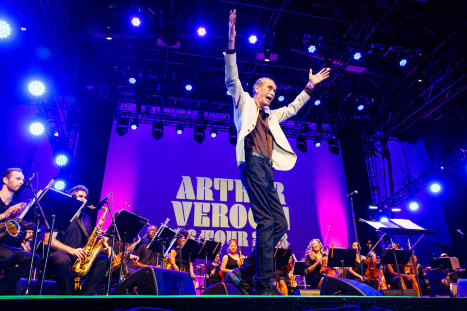
[[[102,225],[104,224],[104,220],[106,219],[106,215],[108,212],[107,207],[102,207],[104,209],[104,213],[102,213],[101,218],[99,219],[99,223],[96,225],[94,230],[92,231],[92,234],[89,237],[88,242],[86,243],[86,246],[84,247],[84,250],[87,252],[87,255],[84,259],[76,259],[75,263],[73,264],[72,271],[77,275],[77,276],[84,276],[86,275],[94,260],[96,259],[97,255],[107,247],[105,245],[105,242],[101,239],[99,242],[96,243],[99,235],[99,230],[102,228]]]

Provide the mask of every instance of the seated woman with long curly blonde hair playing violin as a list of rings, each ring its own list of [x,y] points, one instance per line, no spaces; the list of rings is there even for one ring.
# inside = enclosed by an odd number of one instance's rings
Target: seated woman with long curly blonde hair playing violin
[[[305,250],[306,284],[310,288],[321,288],[323,277],[321,270],[323,244],[319,239],[310,241]],[[325,256],[326,253],[324,252]]]

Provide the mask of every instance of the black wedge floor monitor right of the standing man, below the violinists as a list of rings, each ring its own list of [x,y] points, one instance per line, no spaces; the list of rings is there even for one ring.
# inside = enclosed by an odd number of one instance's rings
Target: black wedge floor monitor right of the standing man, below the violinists
[[[324,276],[320,295],[382,296],[373,287],[362,282],[334,276]]]

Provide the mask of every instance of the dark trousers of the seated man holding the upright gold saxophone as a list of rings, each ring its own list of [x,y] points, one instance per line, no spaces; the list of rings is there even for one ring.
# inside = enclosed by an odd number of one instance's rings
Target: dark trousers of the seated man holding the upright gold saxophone
[[[72,294],[72,276],[71,267],[74,264],[68,254],[60,251],[55,251],[50,254],[48,271],[54,273],[55,281],[57,282],[58,293],[61,295]],[[97,255],[92,263],[88,273],[88,279],[84,283],[83,288],[78,293],[80,295],[92,295],[99,285],[101,279],[105,276],[108,269],[109,259],[105,255]],[[50,269],[50,270],[49,270]]]

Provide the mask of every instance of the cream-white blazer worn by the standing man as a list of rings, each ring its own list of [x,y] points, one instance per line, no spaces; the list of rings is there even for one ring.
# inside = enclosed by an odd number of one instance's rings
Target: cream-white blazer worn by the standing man
[[[237,129],[236,160],[245,161],[245,137],[251,133],[258,119],[259,108],[238,79],[236,54],[225,54],[225,85],[234,101],[234,123]],[[297,161],[297,155],[293,152],[279,123],[297,114],[298,110],[310,99],[310,96],[302,91],[295,100],[285,107],[270,110],[268,124],[272,134],[272,167],[280,171],[288,171]]]

